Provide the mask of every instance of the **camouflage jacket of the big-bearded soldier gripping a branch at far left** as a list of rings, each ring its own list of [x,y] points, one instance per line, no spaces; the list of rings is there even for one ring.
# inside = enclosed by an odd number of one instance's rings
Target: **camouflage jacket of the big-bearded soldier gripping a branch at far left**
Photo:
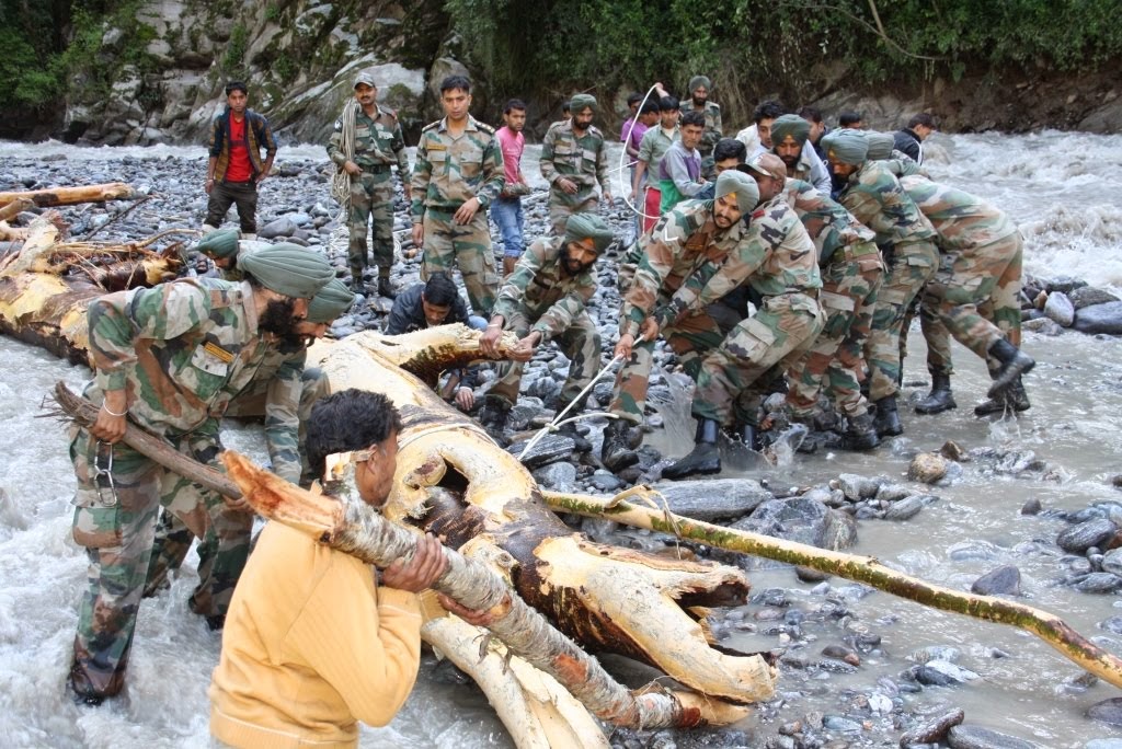
[[[103,392],[126,390],[129,415],[177,436],[219,418],[269,343],[248,283],[183,278],[90,303],[90,354]]]

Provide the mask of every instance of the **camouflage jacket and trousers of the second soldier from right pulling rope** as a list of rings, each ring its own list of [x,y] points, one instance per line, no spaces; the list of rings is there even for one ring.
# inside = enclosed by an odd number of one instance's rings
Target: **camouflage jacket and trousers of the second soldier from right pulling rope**
[[[883,161],[862,164],[849,175],[839,200],[873,230],[877,244],[892,247],[889,272],[877,293],[873,329],[865,346],[872,376],[870,398],[881,400],[899,391],[902,370],[899,340],[904,314],[939,266],[935,228]]]

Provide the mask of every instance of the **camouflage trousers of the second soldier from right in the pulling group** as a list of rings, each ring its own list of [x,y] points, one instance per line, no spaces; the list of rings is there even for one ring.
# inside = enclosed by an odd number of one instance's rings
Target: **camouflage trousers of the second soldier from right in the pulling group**
[[[865,360],[871,376],[870,399],[895,396],[899,390],[900,331],[916,295],[939,267],[935,242],[898,244],[889,272],[876,295],[873,327],[865,343]]]

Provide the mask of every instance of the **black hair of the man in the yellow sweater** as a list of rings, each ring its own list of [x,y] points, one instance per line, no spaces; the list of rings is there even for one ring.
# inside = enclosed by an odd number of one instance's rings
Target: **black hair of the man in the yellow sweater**
[[[307,462],[322,477],[328,455],[385,442],[402,431],[402,415],[380,392],[348,388],[316,400],[306,427]]]

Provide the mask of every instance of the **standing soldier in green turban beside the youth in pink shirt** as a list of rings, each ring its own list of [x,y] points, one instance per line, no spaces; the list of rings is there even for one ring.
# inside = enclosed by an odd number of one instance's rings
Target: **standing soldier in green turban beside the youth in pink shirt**
[[[596,184],[611,205],[608,185],[608,150],[604,133],[592,124],[596,98],[577,94],[572,118],[554,122],[542,140],[539,168],[550,183],[550,223],[553,234],[564,234],[565,221],[574,213],[596,210]]]

